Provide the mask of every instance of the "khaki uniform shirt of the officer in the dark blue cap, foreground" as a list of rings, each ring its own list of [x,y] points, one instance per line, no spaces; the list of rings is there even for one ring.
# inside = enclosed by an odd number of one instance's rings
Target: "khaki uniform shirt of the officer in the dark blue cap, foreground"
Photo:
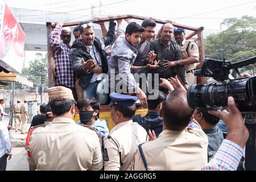
[[[104,170],[127,170],[138,144],[145,142],[146,138],[146,130],[137,122],[129,120],[115,125],[104,138]]]

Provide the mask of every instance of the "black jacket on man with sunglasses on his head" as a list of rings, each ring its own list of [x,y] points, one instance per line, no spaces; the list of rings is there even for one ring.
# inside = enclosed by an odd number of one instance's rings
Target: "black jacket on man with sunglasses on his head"
[[[109,22],[108,34],[103,38],[96,38],[96,37],[94,38],[93,44],[96,47],[97,51],[100,53],[101,67],[102,67],[103,73],[108,73],[108,60],[106,59],[106,52],[104,49],[106,46],[114,42],[114,36],[115,36],[115,23]],[[82,69],[81,58],[83,58],[84,61],[87,61],[89,59],[92,59],[92,56],[90,56],[90,53],[82,44],[81,40],[76,43],[76,49],[73,50],[72,57],[73,57],[73,71],[76,73],[77,77],[80,78],[79,85],[85,89],[86,86],[89,84],[90,79],[93,76],[93,73],[86,73]]]

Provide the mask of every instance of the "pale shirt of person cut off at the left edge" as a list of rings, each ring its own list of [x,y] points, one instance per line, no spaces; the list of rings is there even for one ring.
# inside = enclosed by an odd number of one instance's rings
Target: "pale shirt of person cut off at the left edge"
[[[11,154],[11,140],[6,124],[0,121],[0,158],[5,154]]]

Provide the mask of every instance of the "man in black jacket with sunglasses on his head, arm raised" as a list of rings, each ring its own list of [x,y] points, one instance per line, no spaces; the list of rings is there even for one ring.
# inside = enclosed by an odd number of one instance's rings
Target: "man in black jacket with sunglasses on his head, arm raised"
[[[80,79],[79,85],[84,90],[84,98],[97,98],[100,104],[108,101],[108,89],[107,92],[102,90],[106,79],[101,73],[108,72],[108,61],[103,50],[114,41],[114,30],[115,23],[111,21],[107,36],[97,38],[92,22],[80,22],[82,40],[72,52],[73,71]]]

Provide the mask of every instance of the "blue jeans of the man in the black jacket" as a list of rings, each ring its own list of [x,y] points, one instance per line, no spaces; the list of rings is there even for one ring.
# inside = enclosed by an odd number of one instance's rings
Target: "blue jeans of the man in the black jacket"
[[[90,82],[84,89],[84,98],[94,97],[100,102],[101,105],[106,104],[108,101],[108,85],[106,85],[106,79],[101,81]]]

